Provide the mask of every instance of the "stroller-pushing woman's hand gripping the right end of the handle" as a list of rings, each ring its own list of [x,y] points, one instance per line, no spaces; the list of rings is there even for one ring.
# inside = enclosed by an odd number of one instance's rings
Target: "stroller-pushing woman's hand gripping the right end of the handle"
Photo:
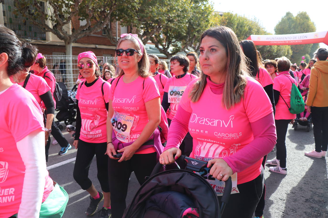
[[[227,181],[229,176],[233,174],[231,167],[221,158],[211,159],[208,161],[207,167],[211,168],[210,174],[218,180]]]

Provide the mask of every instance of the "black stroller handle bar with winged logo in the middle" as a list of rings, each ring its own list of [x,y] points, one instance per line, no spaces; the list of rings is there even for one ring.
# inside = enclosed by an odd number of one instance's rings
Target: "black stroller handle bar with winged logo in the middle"
[[[185,155],[181,155],[176,160],[185,161],[187,163],[186,169],[191,170],[191,171],[195,171],[195,172],[201,172],[203,170],[203,168],[207,167],[207,162],[206,161],[190,158],[190,157],[187,157]],[[154,170],[153,170],[152,174],[150,175],[150,177],[152,177],[155,174],[159,173],[162,167],[163,167],[163,164],[158,162],[155,165]],[[232,189],[232,181],[231,181],[231,176],[229,176],[227,181],[225,181],[224,193],[223,193],[222,198],[220,200],[221,203],[222,203],[221,204],[221,213],[223,212],[225,205],[229,201],[229,197],[230,197],[230,194],[231,194],[231,189]]]

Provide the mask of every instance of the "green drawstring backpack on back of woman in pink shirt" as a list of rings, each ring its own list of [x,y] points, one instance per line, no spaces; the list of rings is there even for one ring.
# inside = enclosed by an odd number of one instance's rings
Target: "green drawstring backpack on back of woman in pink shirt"
[[[286,76],[288,78],[288,76]],[[290,78],[288,78],[290,80]],[[292,83],[292,90],[290,92],[290,107],[288,107],[285,99],[281,96],[282,100],[284,100],[285,104],[287,105],[289,112],[293,113],[293,114],[297,114],[297,113],[301,113],[304,111],[305,109],[305,104],[303,101],[303,97],[301,95],[301,93],[298,91],[297,86],[295,85],[295,83]]]

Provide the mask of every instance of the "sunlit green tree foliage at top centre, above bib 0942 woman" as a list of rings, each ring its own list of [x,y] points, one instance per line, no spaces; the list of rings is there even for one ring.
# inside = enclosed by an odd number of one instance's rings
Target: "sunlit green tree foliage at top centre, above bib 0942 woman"
[[[199,36],[209,27],[212,12],[209,0],[137,0],[125,7],[118,20],[170,58],[188,47],[198,50]]]

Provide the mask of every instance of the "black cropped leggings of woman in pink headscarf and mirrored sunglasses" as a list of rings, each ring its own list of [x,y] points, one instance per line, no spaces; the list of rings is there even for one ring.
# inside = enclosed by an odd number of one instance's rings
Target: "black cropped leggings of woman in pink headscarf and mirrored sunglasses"
[[[73,177],[83,190],[91,187],[89,179],[89,168],[94,155],[97,160],[97,177],[103,192],[110,192],[108,184],[107,162],[108,156],[105,155],[107,143],[88,143],[79,140],[77,147],[76,160],[74,165]]]

